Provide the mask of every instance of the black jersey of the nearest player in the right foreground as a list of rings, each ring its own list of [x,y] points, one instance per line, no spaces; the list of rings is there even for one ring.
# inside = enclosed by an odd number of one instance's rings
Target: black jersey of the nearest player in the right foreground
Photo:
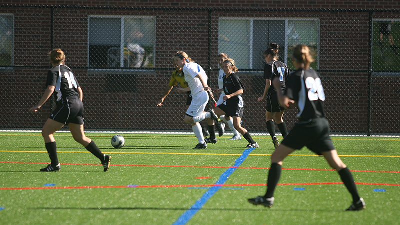
[[[325,93],[315,70],[300,68],[291,74],[284,95],[297,102],[299,110],[297,117],[300,121],[325,116],[323,109]]]

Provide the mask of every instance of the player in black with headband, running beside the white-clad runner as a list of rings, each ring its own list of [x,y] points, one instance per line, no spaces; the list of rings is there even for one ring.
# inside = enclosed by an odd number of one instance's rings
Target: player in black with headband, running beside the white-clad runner
[[[234,73],[238,70],[234,65],[234,60],[231,58],[226,59],[223,62],[222,69],[225,73],[223,76],[223,91],[225,92],[225,96],[223,96],[223,103],[214,108],[215,114],[212,113],[212,109],[210,110],[211,119],[218,121],[221,115],[233,117],[233,126],[248,141],[247,147],[259,147],[258,143],[251,138],[250,133],[240,125],[244,112],[244,101],[241,97],[241,94],[244,92],[244,86],[240,78]],[[208,127],[213,127],[214,125],[214,121],[211,119],[207,119]],[[216,143],[215,133],[209,130],[209,137],[205,139],[205,142]]]

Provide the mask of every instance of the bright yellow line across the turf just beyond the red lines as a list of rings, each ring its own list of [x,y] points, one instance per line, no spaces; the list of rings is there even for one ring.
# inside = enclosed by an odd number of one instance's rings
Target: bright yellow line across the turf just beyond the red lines
[[[7,151],[0,152],[26,152],[26,153],[47,153],[47,151]],[[90,153],[88,151],[57,151],[59,153]],[[222,154],[222,153],[180,153],[180,152],[103,152],[106,154],[182,154],[182,155],[233,155],[241,154]],[[271,154],[249,154],[251,156],[270,156]],[[290,156],[319,156],[315,154],[290,154]],[[400,155],[339,155],[340,157],[393,157],[398,158]]]

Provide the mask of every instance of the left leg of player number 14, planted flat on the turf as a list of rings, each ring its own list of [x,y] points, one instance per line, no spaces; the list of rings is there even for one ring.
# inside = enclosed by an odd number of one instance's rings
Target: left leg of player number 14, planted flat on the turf
[[[42,130],[41,130],[41,135],[44,138],[44,143],[46,145],[46,150],[48,153],[48,156],[50,157],[51,164],[47,166],[46,168],[40,169],[40,171],[57,171],[61,167],[58,162],[58,156],[57,156],[57,144],[54,139],[54,133],[61,129],[64,126],[64,123],[57,122],[52,119],[47,119],[46,123],[44,124]]]

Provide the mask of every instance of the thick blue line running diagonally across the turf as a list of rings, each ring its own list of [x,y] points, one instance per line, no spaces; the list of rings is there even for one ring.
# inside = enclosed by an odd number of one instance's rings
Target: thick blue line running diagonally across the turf
[[[222,175],[219,177],[218,181],[216,181],[216,185],[224,184],[229,176],[239,167],[244,160],[246,160],[247,156],[251,153],[252,150],[255,148],[248,148],[245,149],[243,154],[240,155],[239,158],[236,159],[234,165],[232,167],[235,168],[228,168]],[[173,223],[173,225],[184,225],[186,224],[201,208],[202,206],[207,203],[207,201],[221,188],[222,186],[213,186],[207,190],[203,194],[203,196],[196,201],[187,211],[185,211],[177,220]]]

